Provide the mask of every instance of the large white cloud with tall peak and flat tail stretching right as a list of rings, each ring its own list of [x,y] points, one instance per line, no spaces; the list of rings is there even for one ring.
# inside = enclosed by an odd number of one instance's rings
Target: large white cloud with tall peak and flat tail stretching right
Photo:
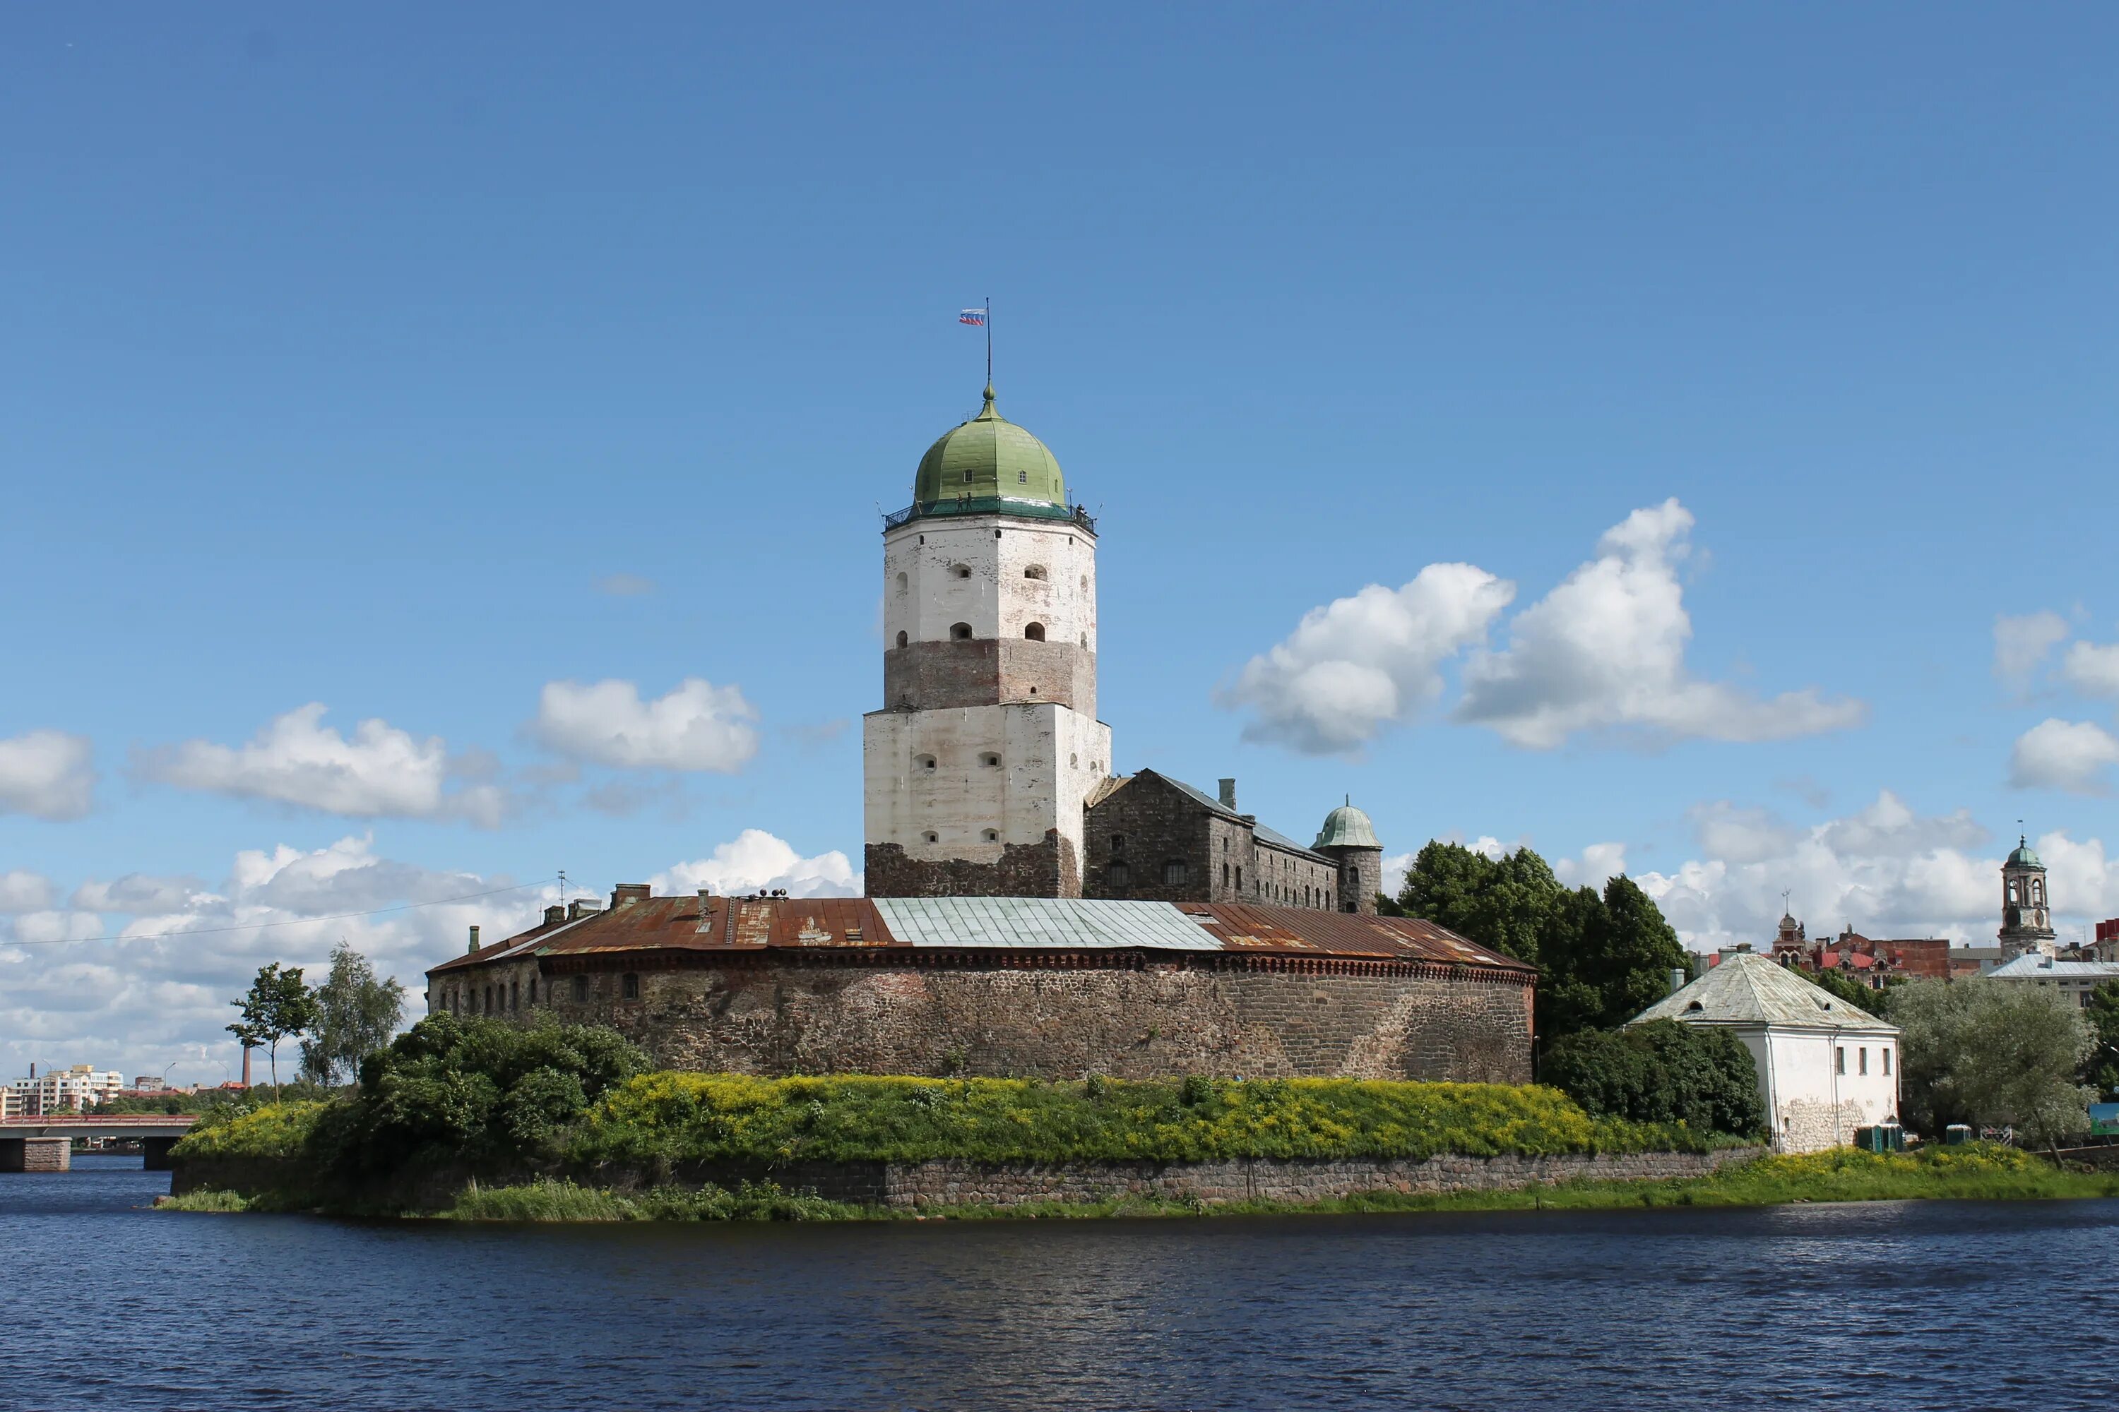
[[[1685,669],[1693,633],[1676,565],[1693,517],[1676,500],[1634,510],[1598,557],[1509,624],[1509,648],[1464,667],[1462,722],[1553,749],[1579,730],[1651,739],[1778,741],[1860,724],[1867,707],[1816,690],[1761,701]]]

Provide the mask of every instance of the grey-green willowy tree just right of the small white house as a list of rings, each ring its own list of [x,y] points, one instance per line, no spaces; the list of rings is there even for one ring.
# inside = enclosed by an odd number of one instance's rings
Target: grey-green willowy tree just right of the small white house
[[[2011,980],[1909,980],[1890,993],[1890,1018],[1905,1031],[1909,1126],[2009,1124],[2043,1145],[2087,1130],[2096,1088],[2079,1075],[2096,1039],[2066,995]]]

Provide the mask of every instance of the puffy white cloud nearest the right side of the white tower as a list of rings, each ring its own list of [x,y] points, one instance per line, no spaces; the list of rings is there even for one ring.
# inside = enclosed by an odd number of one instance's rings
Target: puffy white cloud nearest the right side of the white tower
[[[1303,614],[1221,701],[1254,713],[1244,739],[1307,754],[1358,749],[1435,701],[1441,665],[1485,641],[1513,597],[1515,584],[1468,563],[1430,563],[1401,589],[1369,584]]]

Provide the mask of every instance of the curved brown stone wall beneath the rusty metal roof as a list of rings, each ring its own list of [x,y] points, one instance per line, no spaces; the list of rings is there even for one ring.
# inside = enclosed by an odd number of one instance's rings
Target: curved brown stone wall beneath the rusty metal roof
[[[1471,970],[1125,953],[1034,965],[960,953],[545,963],[536,1010],[610,1025],[667,1069],[1530,1082],[1530,986]]]

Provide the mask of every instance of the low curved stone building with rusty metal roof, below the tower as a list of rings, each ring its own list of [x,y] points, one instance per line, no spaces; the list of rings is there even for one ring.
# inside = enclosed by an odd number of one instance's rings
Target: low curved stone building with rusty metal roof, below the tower
[[[549,908],[428,1010],[610,1025],[731,1073],[1530,1080],[1534,972],[1409,917],[1083,898]]]

